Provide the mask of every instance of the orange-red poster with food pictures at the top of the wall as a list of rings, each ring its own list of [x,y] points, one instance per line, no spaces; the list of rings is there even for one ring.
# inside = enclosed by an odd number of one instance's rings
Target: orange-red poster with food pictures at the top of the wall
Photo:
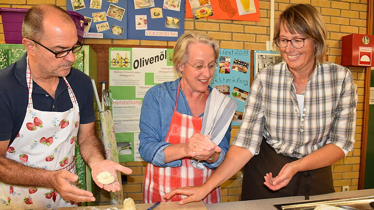
[[[260,20],[259,0],[186,0],[186,18]]]

